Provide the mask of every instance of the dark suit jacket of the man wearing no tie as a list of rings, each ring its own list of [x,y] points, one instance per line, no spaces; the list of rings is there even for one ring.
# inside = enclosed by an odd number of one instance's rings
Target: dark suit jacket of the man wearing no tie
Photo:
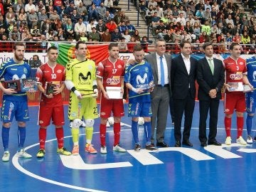
[[[171,60],[171,88],[174,100],[183,100],[188,94],[195,99],[196,97],[196,65],[197,60],[190,58],[191,70],[188,74],[182,55],[178,55]],[[190,89],[188,87],[190,86]]]

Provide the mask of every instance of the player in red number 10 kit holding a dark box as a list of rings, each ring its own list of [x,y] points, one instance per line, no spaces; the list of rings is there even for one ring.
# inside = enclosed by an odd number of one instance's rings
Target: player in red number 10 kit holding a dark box
[[[46,129],[52,119],[55,124],[55,134],[58,141],[58,154],[70,155],[63,147],[63,124],[64,110],[61,92],[65,84],[65,67],[56,63],[58,58],[58,48],[50,47],[47,50],[48,63],[41,65],[36,71],[38,81],[38,90],[41,91],[40,110],[39,110],[39,142],[40,149],[37,157],[43,157],[46,154]],[[53,85],[53,90],[47,91],[48,85]]]

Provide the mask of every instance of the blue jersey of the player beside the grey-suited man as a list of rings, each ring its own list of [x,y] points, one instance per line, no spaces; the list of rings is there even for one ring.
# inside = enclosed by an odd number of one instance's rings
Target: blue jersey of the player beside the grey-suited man
[[[124,82],[129,82],[132,87],[146,87],[149,82],[153,81],[153,74],[149,63],[143,61],[142,63],[135,63],[129,65],[125,69]],[[129,90],[129,102],[150,102],[150,92],[142,92],[138,94]]]

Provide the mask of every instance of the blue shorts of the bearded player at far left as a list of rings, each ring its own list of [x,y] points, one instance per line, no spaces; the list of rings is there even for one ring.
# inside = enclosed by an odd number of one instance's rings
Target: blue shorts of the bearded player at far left
[[[29,120],[28,102],[3,100],[1,109],[2,122],[12,122],[14,116],[17,122],[27,122]]]

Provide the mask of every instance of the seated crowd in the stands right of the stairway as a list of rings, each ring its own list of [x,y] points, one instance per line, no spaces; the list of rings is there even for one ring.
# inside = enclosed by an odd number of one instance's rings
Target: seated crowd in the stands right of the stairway
[[[151,25],[156,38],[164,38],[174,43],[171,50],[179,50],[178,43],[223,43],[244,44],[245,53],[254,52],[256,41],[255,1],[242,0],[252,8],[250,18],[233,1],[223,0],[139,0],[137,6],[145,16],[146,23]],[[216,46],[215,52],[222,53]],[[225,48],[223,48],[224,50]],[[176,52],[176,51],[174,51]]]

